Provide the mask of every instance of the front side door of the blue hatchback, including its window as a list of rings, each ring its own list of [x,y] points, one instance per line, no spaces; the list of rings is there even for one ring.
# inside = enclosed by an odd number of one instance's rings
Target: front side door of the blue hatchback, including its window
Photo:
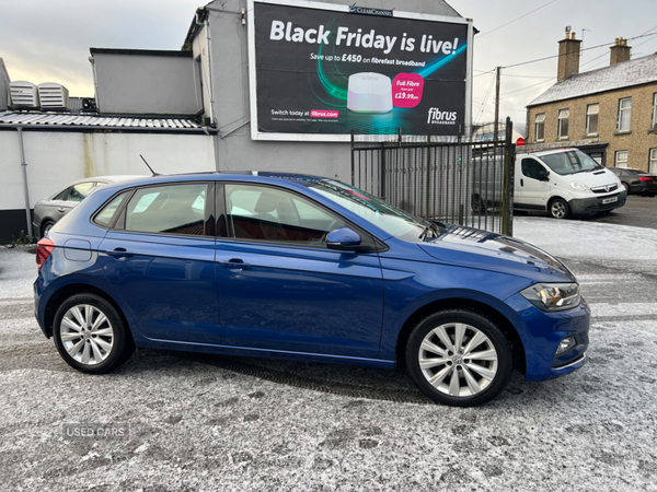
[[[381,266],[377,253],[326,248],[326,234],[349,225],[344,219],[264,185],[226,184],[218,203],[224,207],[216,263],[223,345],[377,356]]]

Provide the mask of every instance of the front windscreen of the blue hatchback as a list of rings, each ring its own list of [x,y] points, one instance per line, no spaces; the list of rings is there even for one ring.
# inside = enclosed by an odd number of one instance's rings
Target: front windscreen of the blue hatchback
[[[365,191],[336,180],[322,180],[308,185],[320,195],[356,213],[391,236],[419,242],[427,238],[428,222],[413,216]]]

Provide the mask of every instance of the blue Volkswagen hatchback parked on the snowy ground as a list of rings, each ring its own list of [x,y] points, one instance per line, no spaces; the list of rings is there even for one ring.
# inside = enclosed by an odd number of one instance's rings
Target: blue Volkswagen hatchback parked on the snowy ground
[[[88,373],[135,347],[401,366],[433,400],[466,407],[498,395],[514,367],[541,380],[586,363],[590,313],[561,261],[334,179],[107,185],[36,260],[38,324]]]

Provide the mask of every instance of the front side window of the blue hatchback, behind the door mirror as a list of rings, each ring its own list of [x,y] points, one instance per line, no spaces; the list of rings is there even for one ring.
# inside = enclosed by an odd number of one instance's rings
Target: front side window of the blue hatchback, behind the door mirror
[[[227,234],[234,239],[326,246],[326,235],[345,222],[290,191],[257,185],[224,186]]]

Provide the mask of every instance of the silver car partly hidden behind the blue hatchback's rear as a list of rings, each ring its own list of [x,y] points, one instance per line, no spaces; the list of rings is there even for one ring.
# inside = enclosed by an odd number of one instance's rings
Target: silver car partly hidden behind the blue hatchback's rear
[[[84,200],[96,186],[135,177],[139,176],[99,176],[78,179],[67,185],[66,188],[50,195],[48,198],[37,201],[34,206],[34,221],[32,222],[34,236],[37,238],[45,237],[53,225],[69,213],[73,207]]]

